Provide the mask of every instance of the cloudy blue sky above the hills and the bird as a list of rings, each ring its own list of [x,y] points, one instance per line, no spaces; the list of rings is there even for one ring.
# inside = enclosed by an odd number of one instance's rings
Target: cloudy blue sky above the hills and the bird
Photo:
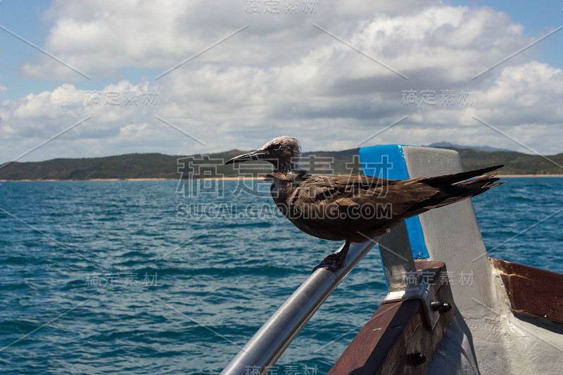
[[[298,1],[293,14],[278,3],[274,14],[264,1],[257,13],[248,1],[1,1],[1,27],[91,80],[0,30],[0,160],[86,117],[21,160],[205,153],[282,134],[307,151],[353,148],[371,134],[361,146],[563,151],[563,30],[472,80],[563,25],[560,1],[318,0],[314,12]],[[448,90],[455,103],[441,105]],[[89,91],[121,102],[91,105]],[[417,103],[404,103],[405,91]],[[422,103],[423,91],[436,103]],[[126,106],[127,92],[158,100]]]

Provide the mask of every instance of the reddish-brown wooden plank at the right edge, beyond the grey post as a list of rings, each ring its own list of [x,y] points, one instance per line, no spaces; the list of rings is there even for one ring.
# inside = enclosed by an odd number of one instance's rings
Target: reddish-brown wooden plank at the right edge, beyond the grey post
[[[563,322],[563,275],[491,258],[512,310]]]

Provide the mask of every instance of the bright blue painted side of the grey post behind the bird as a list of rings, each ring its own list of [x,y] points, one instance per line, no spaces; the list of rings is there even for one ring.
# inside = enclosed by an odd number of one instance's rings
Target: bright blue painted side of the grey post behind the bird
[[[367,176],[386,179],[409,179],[403,145],[387,144],[360,148],[360,163]],[[409,231],[412,256],[415,259],[430,259],[428,248],[424,242],[422,224],[418,216],[405,220]]]

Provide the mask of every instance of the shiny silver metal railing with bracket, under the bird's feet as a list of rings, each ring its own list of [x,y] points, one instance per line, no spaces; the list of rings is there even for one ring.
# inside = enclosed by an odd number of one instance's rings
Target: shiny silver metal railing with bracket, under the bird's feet
[[[260,374],[266,374],[265,369],[277,361],[324,300],[376,243],[379,243],[389,291],[384,303],[410,299],[422,300],[429,326],[434,326],[438,319],[438,312],[431,309],[434,291],[429,286],[419,284],[407,225],[401,222],[383,238],[379,237],[365,243],[351,243],[346,257],[346,267],[343,269],[331,272],[321,268],[313,272],[254,334],[221,374],[243,375],[247,374],[249,369],[252,371],[260,369]],[[341,249],[342,246],[339,250]],[[414,274],[414,280],[406,279],[407,274]]]

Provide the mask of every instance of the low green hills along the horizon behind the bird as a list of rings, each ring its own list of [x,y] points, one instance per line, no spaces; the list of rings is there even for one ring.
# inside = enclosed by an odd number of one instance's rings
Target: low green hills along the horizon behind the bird
[[[444,143],[440,143],[444,144]],[[436,145],[436,144],[433,144]],[[502,174],[563,174],[563,153],[544,158],[516,151],[483,151],[460,146],[450,148],[462,157],[465,170],[504,164]],[[481,146],[483,148],[483,146]],[[494,148],[493,148],[494,149]],[[344,151],[303,153],[303,167],[320,174],[361,173],[359,148]],[[209,155],[164,155],[129,153],[103,158],[58,158],[32,163],[10,163],[0,168],[0,180],[84,180],[84,179],[179,179],[236,177],[271,169],[265,162],[224,165],[224,161],[246,151],[231,150]],[[549,159],[549,160],[548,160]],[[551,161],[550,161],[551,160]]]

